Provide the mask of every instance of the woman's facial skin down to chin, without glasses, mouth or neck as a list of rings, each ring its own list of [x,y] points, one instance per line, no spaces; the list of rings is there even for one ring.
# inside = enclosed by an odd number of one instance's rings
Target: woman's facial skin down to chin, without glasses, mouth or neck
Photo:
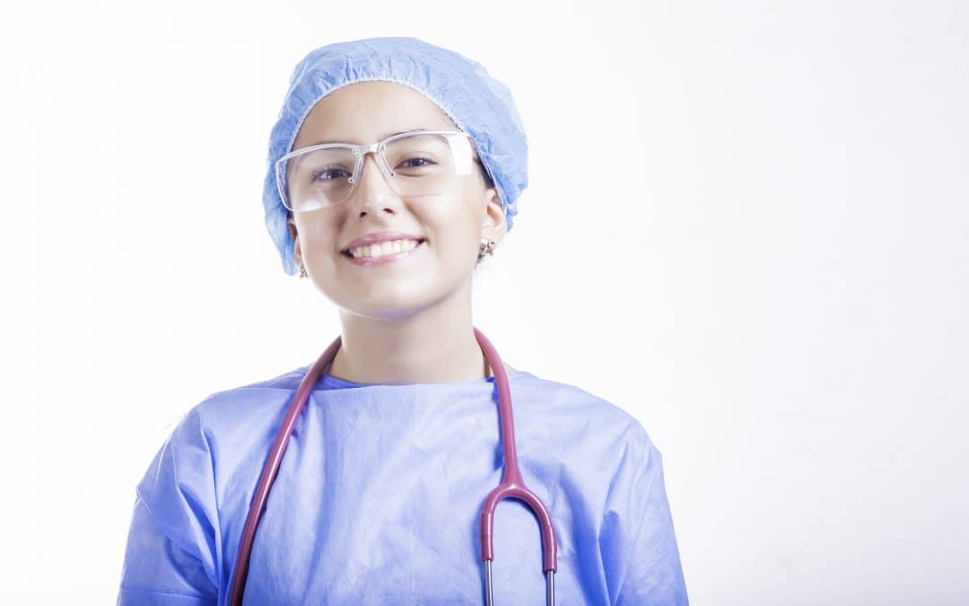
[[[324,97],[306,116],[294,149],[333,141],[371,144],[402,131],[458,130],[422,93],[388,81],[357,82]],[[477,154],[476,154],[477,157]],[[391,167],[392,168],[392,167]],[[475,165],[440,195],[399,196],[368,154],[353,193],[340,204],[290,217],[297,265],[342,309],[375,319],[413,315],[469,287],[483,237],[506,231],[495,188]],[[354,239],[394,231],[424,239],[410,254],[379,265],[341,251]]]

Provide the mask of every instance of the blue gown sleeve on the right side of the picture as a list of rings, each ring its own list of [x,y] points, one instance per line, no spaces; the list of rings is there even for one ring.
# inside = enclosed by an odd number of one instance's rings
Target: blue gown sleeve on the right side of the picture
[[[637,422],[630,431],[607,510],[607,558],[617,562],[615,606],[688,606],[663,457]]]

